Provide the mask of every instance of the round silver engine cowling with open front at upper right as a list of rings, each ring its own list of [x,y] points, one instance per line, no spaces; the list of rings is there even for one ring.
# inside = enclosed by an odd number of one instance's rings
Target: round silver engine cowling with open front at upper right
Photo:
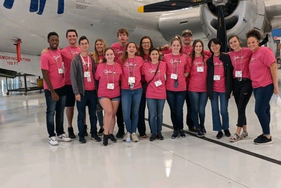
[[[216,7],[212,4],[200,6],[201,25],[208,39],[216,38],[217,16],[215,15],[215,10]],[[267,19],[264,0],[238,2],[230,0],[224,12],[227,13],[225,20],[228,37],[237,35],[241,41],[246,41],[246,33],[252,28],[260,30],[261,34],[271,31],[271,24]]]

